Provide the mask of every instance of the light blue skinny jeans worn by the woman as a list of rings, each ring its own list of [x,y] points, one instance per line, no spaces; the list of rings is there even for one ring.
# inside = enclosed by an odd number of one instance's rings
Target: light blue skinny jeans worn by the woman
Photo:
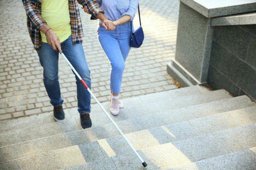
[[[99,42],[111,64],[110,89],[116,94],[121,90],[123,70],[130,50],[129,38],[130,22],[118,25],[113,31],[107,31],[102,26],[98,28]]]

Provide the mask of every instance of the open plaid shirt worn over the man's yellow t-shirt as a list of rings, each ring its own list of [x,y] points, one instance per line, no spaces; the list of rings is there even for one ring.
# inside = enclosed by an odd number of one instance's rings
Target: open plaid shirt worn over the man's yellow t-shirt
[[[72,42],[73,44],[81,44],[83,37],[83,28],[78,10],[78,3],[83,5],[83,7],[84,5],[87,5],[88,9],[92,13],[92,16],[96,16],[99,13],[104,13],[104,11],[99,8],[96,0],[67,1],[69,1]],[[27,28],[29,30],[30,38],[32,40],[34,48],[38,51],[42,44],[39,28],[42,25],[47,24],[41,16],[41,0],[22,0],[22,3],[27,14]]]

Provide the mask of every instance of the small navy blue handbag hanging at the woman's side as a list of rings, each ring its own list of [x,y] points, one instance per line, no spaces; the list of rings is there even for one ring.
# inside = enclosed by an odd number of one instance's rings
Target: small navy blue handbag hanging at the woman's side
[[[140,19],[140,7],[138,5],[138,11],[139,11],[139,19]],[[144,32],[143,28],[141,27],[141,21],[140,26],[137,30],[134,32],[132,31],[133,22],[130,22],[130,47],[139,48],[144,40]]]

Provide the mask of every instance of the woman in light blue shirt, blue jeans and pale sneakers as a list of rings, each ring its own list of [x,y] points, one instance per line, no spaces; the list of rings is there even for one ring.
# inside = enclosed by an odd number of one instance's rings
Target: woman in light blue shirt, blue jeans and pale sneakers
[[[118,115],[120,109],[124,108],[118,95],[121,91],[125,61],[130,50],[130,22],[134,18],[139,0],[97,0],[97,2],[104,10],[107,19],[112,21],[99,23],[98,39],[111,63],[110,113]]]

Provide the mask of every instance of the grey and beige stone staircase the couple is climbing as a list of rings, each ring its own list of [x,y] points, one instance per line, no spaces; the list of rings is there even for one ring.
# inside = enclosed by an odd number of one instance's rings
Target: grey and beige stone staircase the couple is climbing
[[[256,104],[202,86],[123,100],[113,117],[145,169],[255,169]],[[104,103],[107,109],[108,103]],[[98,105],[83,130],[76,109],[0,122],[0,169],[143,169]]]

